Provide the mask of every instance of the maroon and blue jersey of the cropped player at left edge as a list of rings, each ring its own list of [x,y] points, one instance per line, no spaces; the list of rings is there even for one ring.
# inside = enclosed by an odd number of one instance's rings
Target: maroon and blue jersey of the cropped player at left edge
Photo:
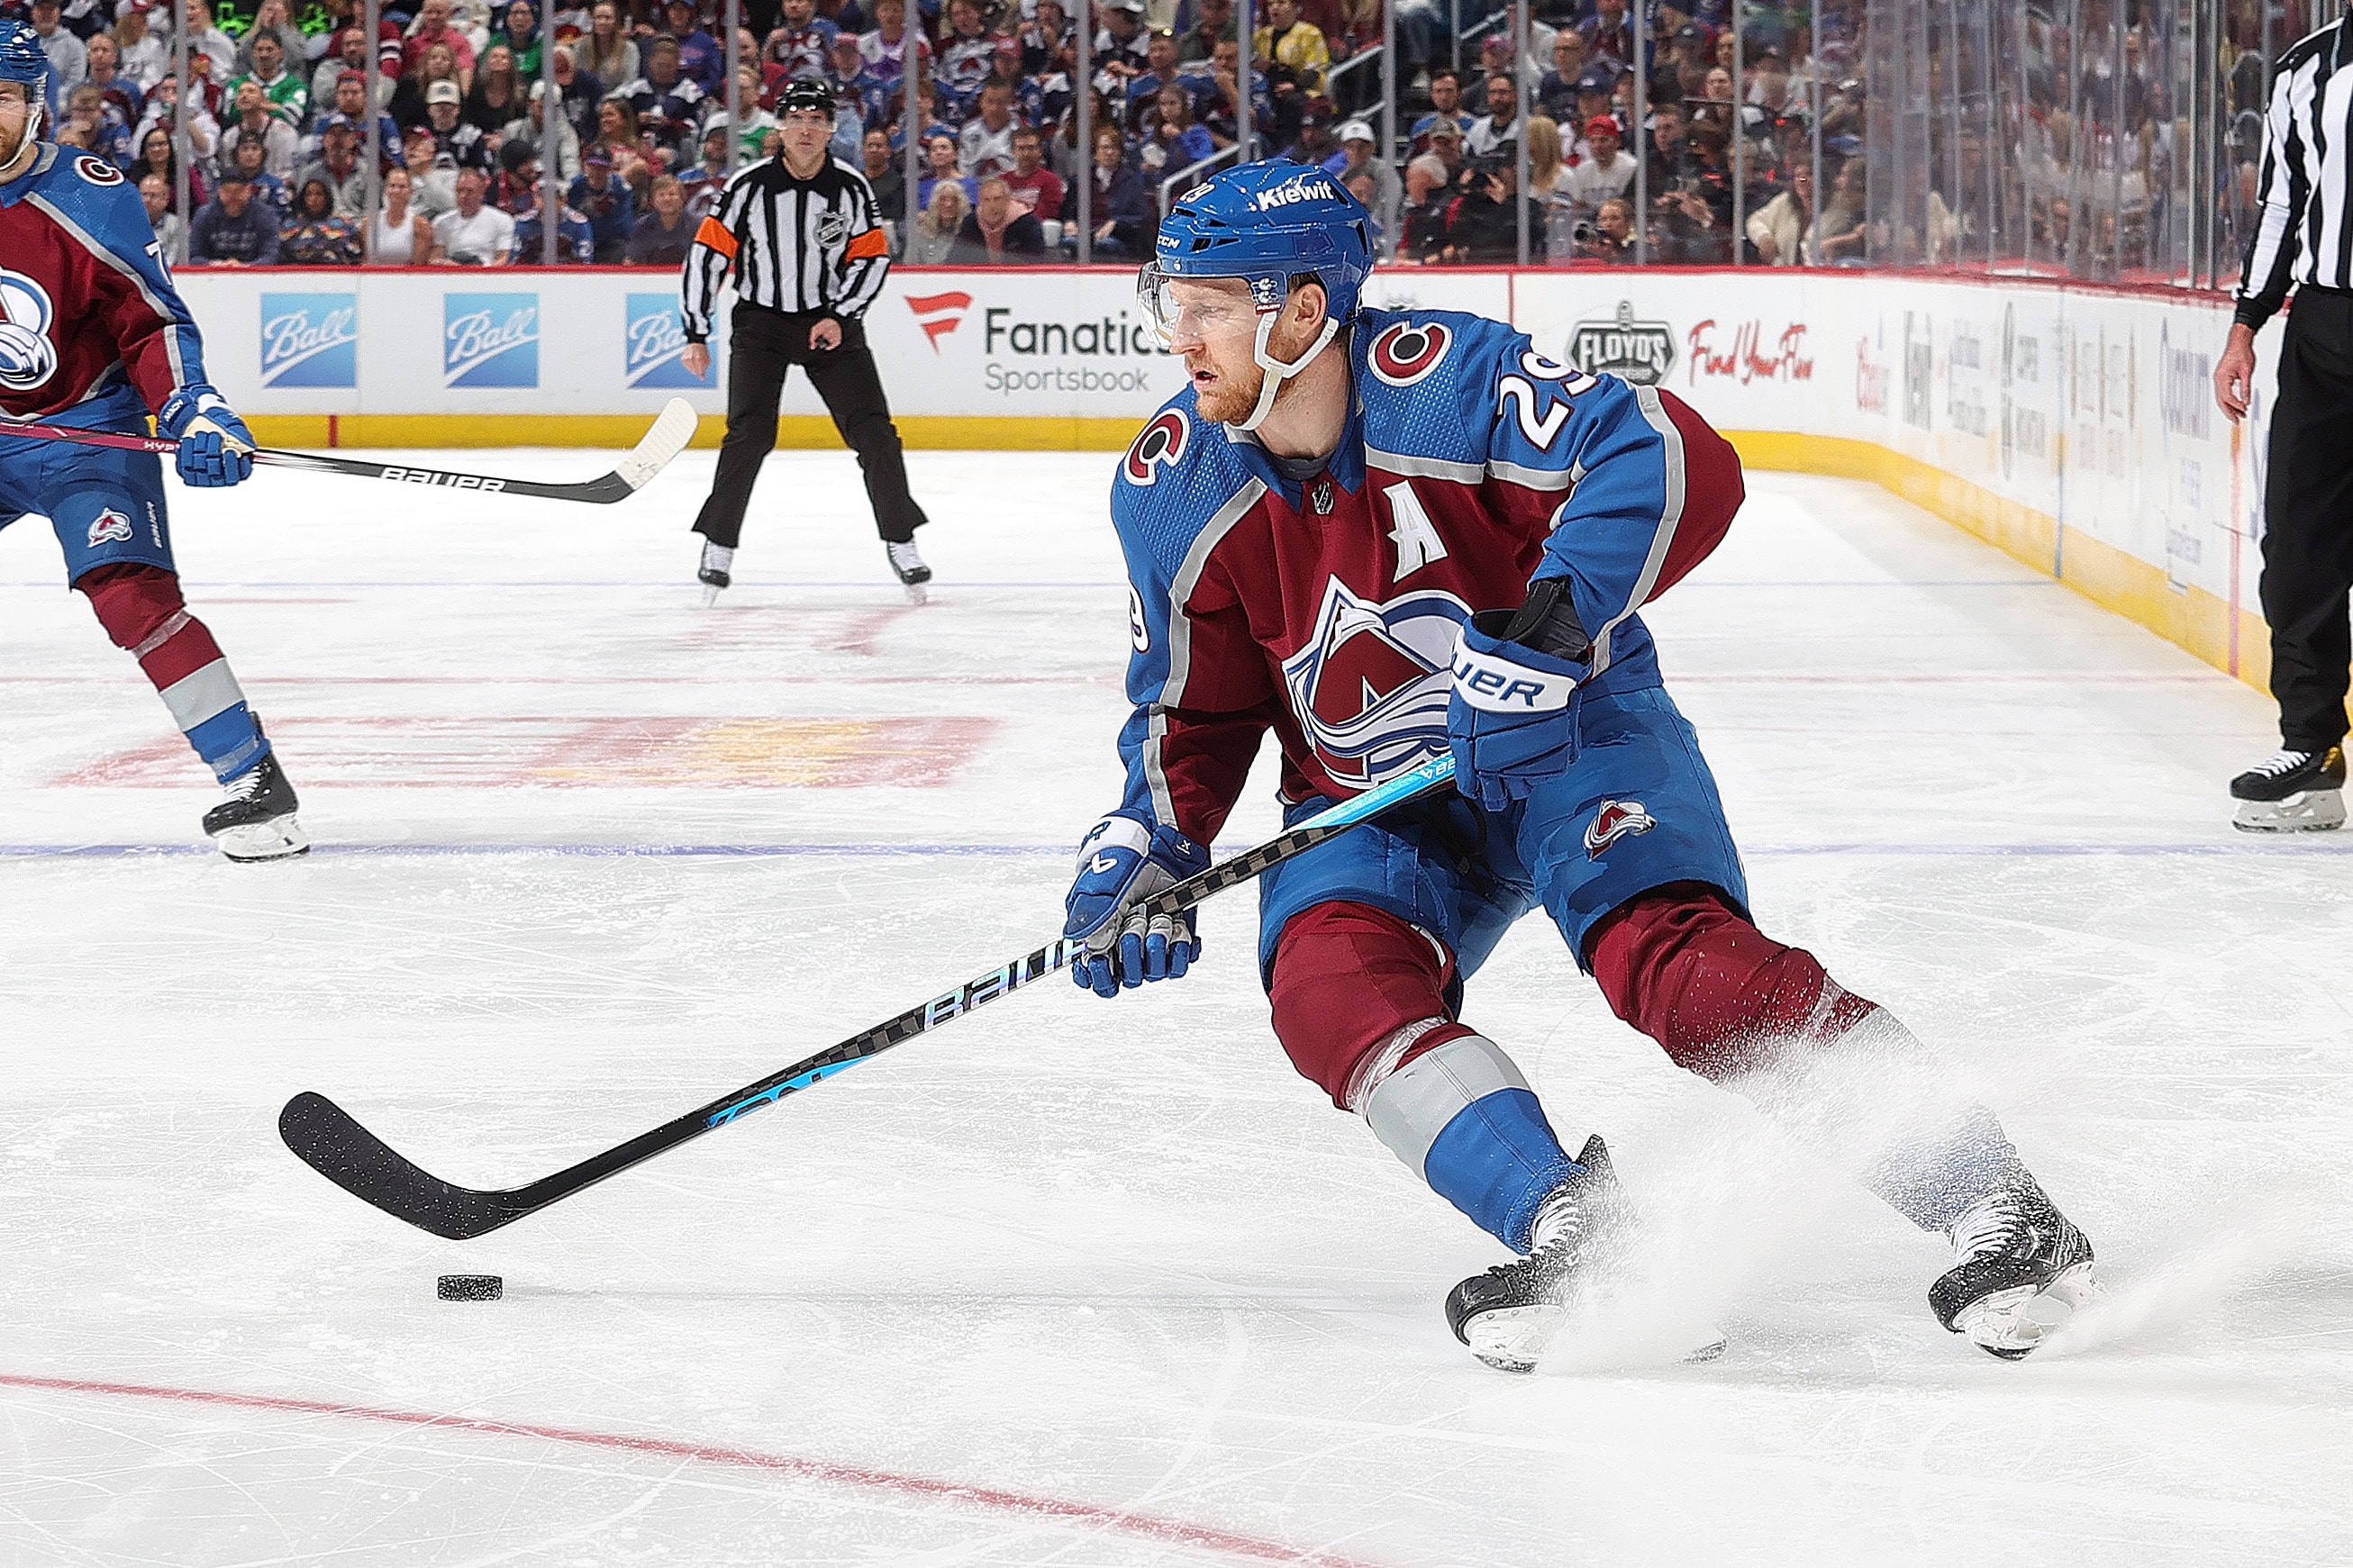
[[[104,158],[45,143],[0,186],[0,411],[141,430],[200,381],[202,343],[139,190]]]

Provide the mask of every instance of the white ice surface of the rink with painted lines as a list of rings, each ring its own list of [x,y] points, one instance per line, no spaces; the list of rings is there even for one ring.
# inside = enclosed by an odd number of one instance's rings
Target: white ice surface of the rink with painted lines
[[[320,846],[275,867],[200,846],[202,769],[0,534],[0,1561],[2353,1559],[2353,842],[2228,830],[2257,693],[1835,480],[1755,475],[1652,618],[1762,924],[2099,1241],[2068,1354],[1941,1333],[1937,1248],[1541,922],[1468,1018],[1682,1239],[1713,1366],[1452,1342],[1497,1248],[1292,1074],[1242,893],[1184,985],[1040,985],[475,1244],[299,1166],[320,1088],[525,1180],[1059,926],[1118,792],[1108,458],[908,465],[927,609],[847,454],[772,461],[713,611],[701,451],[612,510],[176,491]],[[1261,778],[1228,849],[1271,825]]]

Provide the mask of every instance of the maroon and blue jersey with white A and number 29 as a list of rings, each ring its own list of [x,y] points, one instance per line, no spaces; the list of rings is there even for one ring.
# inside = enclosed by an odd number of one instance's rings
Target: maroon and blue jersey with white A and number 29
[[[1325,473],[1294,482],[1186,388],[1113,480],[1127,555],[1122,816],[1207,844],[1261,736],[1287,802],[1447,748],[1454,642],[1569,581],[1588,691],[1659,684],[1640,607],[1715,548],[1739,458],[1671,393],[1546,360],[1501,322],[1365,310]],[[1694,494],[1694,487],[1699,494]]]

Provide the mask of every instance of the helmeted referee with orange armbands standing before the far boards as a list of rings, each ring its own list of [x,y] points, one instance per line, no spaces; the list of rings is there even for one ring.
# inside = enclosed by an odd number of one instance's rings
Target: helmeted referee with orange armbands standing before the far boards
[[[831,158],[833,92],[824,82],[791,82],[776,110],[784,155],[739,172],[704,219],[685,263],[685,367],[711,371],[711,329],[722,282],[734,282],[736,306],[727,348],[727,440],[718,475],[694,531],[704,536],[699,578],[704,604],[718,599],[734,569],[744,508],[760,463],[776,447],[776,402],[793,364],[826,400],[833,428],[859,454],[866,498],[889,567],[918,604],[932,569],[915,552],[922,508],[906,491],[899,428],[882,397],[873,350],[866,348],[866,308],[889,273],[889,235],[875,214],[875,193],[849,165]]]

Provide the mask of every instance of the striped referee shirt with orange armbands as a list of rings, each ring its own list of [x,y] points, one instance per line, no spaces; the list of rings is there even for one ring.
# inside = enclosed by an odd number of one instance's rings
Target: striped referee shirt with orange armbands
[[[755,306],[856,320],[889,273],[889,235],[875,219],[873,186],[838,158],[809,179],[798,179],[784,158],[741,169],[687,249],[689,343],[711,336],[729,273],[736,296]]]

